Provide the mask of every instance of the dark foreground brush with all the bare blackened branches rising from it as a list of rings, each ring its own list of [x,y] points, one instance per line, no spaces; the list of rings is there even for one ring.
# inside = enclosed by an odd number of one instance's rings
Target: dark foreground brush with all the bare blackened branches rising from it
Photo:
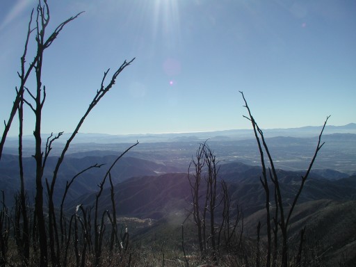
[[[327,266],[327,250],[316,243],[306,243],[308,229],[305,225],[293,225],[295,213],[302,214],[297,205],[303,188],[308,180],[316,156],[323,147],[321,130],[316,149],[307,170],[296,183],[296,190],[286,198],[280,172],[273,164],[264,133],[254,120],[245,97],[246,118],[252,123],[254,136],[261,159],[259,186],[264,192],[264,211],[257,225],[245,224],[243,207],[236,198],[233,186],[220,179],[220,164],[207,141],[197,147],[197,152],[188,167],[185,181],[189,194],[186,209],[181,213],[170,213],[174,219],[173,227],[145,221],[149,225],[132,236],[132,225],[142,223],[138,218],[118,220],[117,191],[113,184],[111,170],[115,164],[138,142],[118,154],[107,166],[100,163],[88,165],[73,177],[67,177],[65,190],[60,200],[57,194],[58,173],[72,140],[79,132],[92,108],[113,88],[115,80],[133,60],[124,61],[108,78],[104,72],[100,88],[84,112],[70,138],[56,159],[51,177],[44,176],[52,145],[63,133],[51,134],[42,142],[41,118],[46,99],[46,88],[42,85],[42,60],[44,52],[56,40],[60,32],[81,13],[59,24],[47,35],[49,25],[49,6],[46,0],[39,1],[37,9],[31,14],[26,35],[24,54],[21,57],[19,86],[10,116],[0,143],[0,160],[6,136],[15,115],[19,122],[19,189],[14,195],[14,203],[7,206],[6,192],[2,193],[0,211],[0,266]],[[27,49],[31,36],[35,35],[37,51],[29,64],[26,63]],[[29,76],[34,76],[35,86],[27,86]],[[106,79],[109,79],[106,82]],[[30,89],[29,89],[30,88]],[[22,127],[24,105],[29,106],[35,116],[33,136],[35,138],[35,193],[26,191],[26,173],[23,168]],[[96,168],[106,168],[105,175],[97,184],[91,204],[76,204],[75,209],[65,209],[65,200],[70,187],[84,172]],[[108,184],[109,193],[104,195],[104,186]],[[164,185],[163,185],[164,186]],[[93,189],[94,190],[94,189]],[[137,201],[131,194],[132,201]],[[102,209],[103,197],[109,200],[110,208]],[[346,203],[348,207],[355,203]],[[350,208],[350,207],[349,207]],[[352,208],[350,208],[352,209]],[[142,219],[141,219],[142,220]],[[300,222],[300,220],[298,220]],[[254,234],[245,233],[245,229],[254,229]],[[147,231],[150,229],[150,235]],[[152,236],[154,233],[154,236]],[[297,233],[297,234],[296,234]],[[353,266],[355,258],[342,254],[332,264]],[[208,265],[210,264],[210,265]],[[333,265],[334,266],[334,265]]]

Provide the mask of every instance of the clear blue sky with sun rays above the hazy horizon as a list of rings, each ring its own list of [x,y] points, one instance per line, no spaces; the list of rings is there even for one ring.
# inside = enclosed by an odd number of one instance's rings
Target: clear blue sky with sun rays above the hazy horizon
[[[133,57],[81,132],[250,129],[239,90],[261,128],[321,125],[327,115],[329,124],[356,122],[355,1],[48,2],[49,29],[85,13],[44,54],[44,133],[72,132],[104,71]],[[1,120],[19,85],[19,57],[37,3],[0,3]],[[25,120],[31,134],[31,111]],[[10,135],[16,134],[15,123]]]

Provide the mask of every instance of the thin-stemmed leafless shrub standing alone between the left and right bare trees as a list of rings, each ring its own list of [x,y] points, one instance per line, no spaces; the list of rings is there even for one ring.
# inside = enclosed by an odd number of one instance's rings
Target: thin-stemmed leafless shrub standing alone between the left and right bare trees
[[[207,141],[200,144],[188,168],[191,213],[197,228],[200,254],[202,259],[211,259],[216,264],[225,252],[238,250],[243,232],[241,210],[238,204],[232,204],[225,181],[218,182],[219,168]]]

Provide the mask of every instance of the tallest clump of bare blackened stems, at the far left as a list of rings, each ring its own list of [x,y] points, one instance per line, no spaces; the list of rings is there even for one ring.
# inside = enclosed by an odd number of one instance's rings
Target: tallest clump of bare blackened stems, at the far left
[[[67,143],[65,144],[65,148],[63,149],[62,154],[58,158],[58,162],[56,165],[56,168],[54,170],[54,175],[49,182],[46,179],[47,183],[47,193],[48,193],[48,208],[49,208],[49,213],[48,213],[48,220],[44,216],[44,191],[43,191],[43,172],[44,168],[46,165],[47,157],[49,156],[49,152],[51,151],[51,143],[56,140],[57,138],[60,137],[62,133],[58,133],[58,136],[55,136],[54,138],[50,139],[47,138],[47,144],[46,144],[46,149],[45,151],[42,151],[42,136],[41,136],[41,124],[42,124],[42,108],[44,106],[44,102],[46,99],[46,88],[45,86],[42,85],[42,63],[43,63],[43,58],[44,58],[44,51],[47,49],[49,46],[51,46],[52,42],[58,37],[58,34],[60,31],[63,30],[64,26],[71,22],[72,20],[76,19],[81,13],[77,14],[74,17],[70,17],[67,19],[65,22],[59,24],[56,29],[49,35],[49,37],[46,39],[46,29],[47,26],[49,25],[49,6],[47,4],[47,0],[39,0],[38,1],[38,6],[37,6],[37,16],[35,19],[35,26],[33,27],[34,29],[31,29],[32,26],[32,18],[33,18],[33,11],[31,13],[31,18],[29,22],[29,27],[27,31],[27,36],[26,36],[26,43],[24,47],[24,54],[22,55],[21,58],[21,72],[18,72],[21,84],[17,90],[17,95],[15,97],[15,101],[13,103],[13,108],[10,111],[10,117],[8,118],[8,121],[5,122],[5,129],[3,131],[3,135],[1,137],[1,142],[0,142],[0,159],[3,151],[3,145],[6,140],[6,136],[8,134],[8,131],[10,129],[10,126],[13,122],[13,118],[15,117],[16,112],[18,111],[19,115],[19,177],[20,177],[20,190],[19,190],[19,198],[17,202],[17,208],[16,208],[16,227],[18,229],[15,229],[16,231],[16,238],[17,238],[17,248],[19,248],[19,251],[21,252],[21,257],[24,259],[24,264],[26,265],[27,259],[29,259],[29,254],[31,251],[30,248],[30,224],[29,220],[31,220],[31,217],[29,217],[29,212],[31,213],[31,210],[28,210],[26,207],[26,190],[25,190],[25,180],[24,180],[24,171],[22,167],[22,121],[23,121],[23,104],[26,103],[29,108],[33,111],[35,115],[35,125],[34,125],[34,130],[33,130],[33,136],[35,138],[35,152],[33,154],[33,158],[35,159],[35,204],[34,204],[34,216],[33,216],[33,252],[34,254],[37,254],[39,250],[39,258],[38,258],[38,264],[40,266],[48,266],[49,264],[49,253],[50,252],[50,259],[51,259],[51,265],[52,266],[59,266],[60,265],[60,241],[58,237],[58,229],[57,229],[57,223],[56,223],[56,213],[54,212],[54,188],[56,184],[56,177],[58,175],[58,170],[60,168],[61,163],[63,162],[65,153],[67,152],[67,149],[70,146],[70,143],[74,139],[74,136],[76,136],[76,133],[78,133],[81,124],[83,124],[83,121],[86,119],[92,108],[96,106],[96,104],[104,97],[106,92],[110,90],[113,85],[115,84],[115,80],[124,70],[125,67],[130,65],[130,63],[134,60],[134,58],[127,62],[126,60],[122,65],[116,70],[111,77],[111,80],[108,82],[107,86],[104,86],[104,81],[106,79],[106,76],[108,74],[108,71],[104,72],[104,77],[102,79],[101,83],[101,88],[97,90],[97,94],[95,97],[92,99],[92,102],[89,105],[88,110],[86,113],[83,115],[81,120],[76,126],[76,129],[74,130],[74,133],[72,136],[70,136],[70,139],[67,140]],[[25,62],[26,62],[26,54],[27,54],[27,49],[29,45],[29,37],[32,32],[35,32],[35,44],[37,47],[37,51],[35,54],[35,57],[33,61],[29,64],[29,67],[25,69]],[[31,73],[33,73],[33,70],[35,71],[35,88],[32,88],[29,90],[26,88],[26,81],[28,80],[29,76]],[[26,97],[24,97],[24,93],[26,93]],[[136,144],[137,145],[137,144]],[[131,147],[130,147],[131,148]],[[20,219],[20,216],[22,216],[22,220]],[[61,214],[62,218],[63,214]],[[20,225],[22,222],[22,233],[20,232]],[[90,223],[88,223],[90,225]],[[62,229],[62,228],[61,228]],[[88,246],[90,245],[90,242],[88,242]]]

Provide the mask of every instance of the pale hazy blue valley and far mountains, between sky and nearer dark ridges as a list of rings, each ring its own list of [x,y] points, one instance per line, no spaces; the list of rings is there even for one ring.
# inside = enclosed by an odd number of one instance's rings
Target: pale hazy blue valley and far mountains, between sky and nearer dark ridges
[[[321,127],[302,127],[266,129],[264,134],[278,168],[303,170],[307,168],[307,161],[314,153],[320,131]],[[69,133],[65,133],[54,142],[51,156],[60,154],[68,135]],[[259,164],[259,152],[252,130],[123,136],[78,133],[74,140],[67,156],[76,158],[93,154],[117,155],[138,140],[140,144],[131,149],[129,156],[178,168],[181,172],[186,172],[191,156],[205,140],[209,140],[220,161]],[[322,137],[322,142],[324,141],[325,145],[318,154],[314,168],[337,170],[348,175],[356,173],[356,124],[338,127],[327,125]],[[17,138],[8,138],[3,153],[16,155],[17,142]],[[33,145],[32,136],[26,136],[23,145],[24,156],[33,155]]]

